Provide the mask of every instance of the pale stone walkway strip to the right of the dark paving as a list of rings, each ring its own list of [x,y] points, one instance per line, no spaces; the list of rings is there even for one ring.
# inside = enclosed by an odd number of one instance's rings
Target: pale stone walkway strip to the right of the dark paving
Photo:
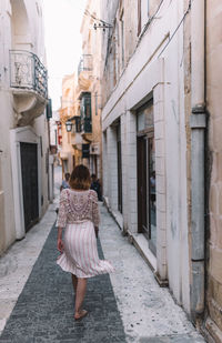
[[[202,343],[169,289],[157,283],[137,249],[122,236],[112,216],[101,206],[100,240],[105,259],[113,262],[111,283],[129,343]]]

